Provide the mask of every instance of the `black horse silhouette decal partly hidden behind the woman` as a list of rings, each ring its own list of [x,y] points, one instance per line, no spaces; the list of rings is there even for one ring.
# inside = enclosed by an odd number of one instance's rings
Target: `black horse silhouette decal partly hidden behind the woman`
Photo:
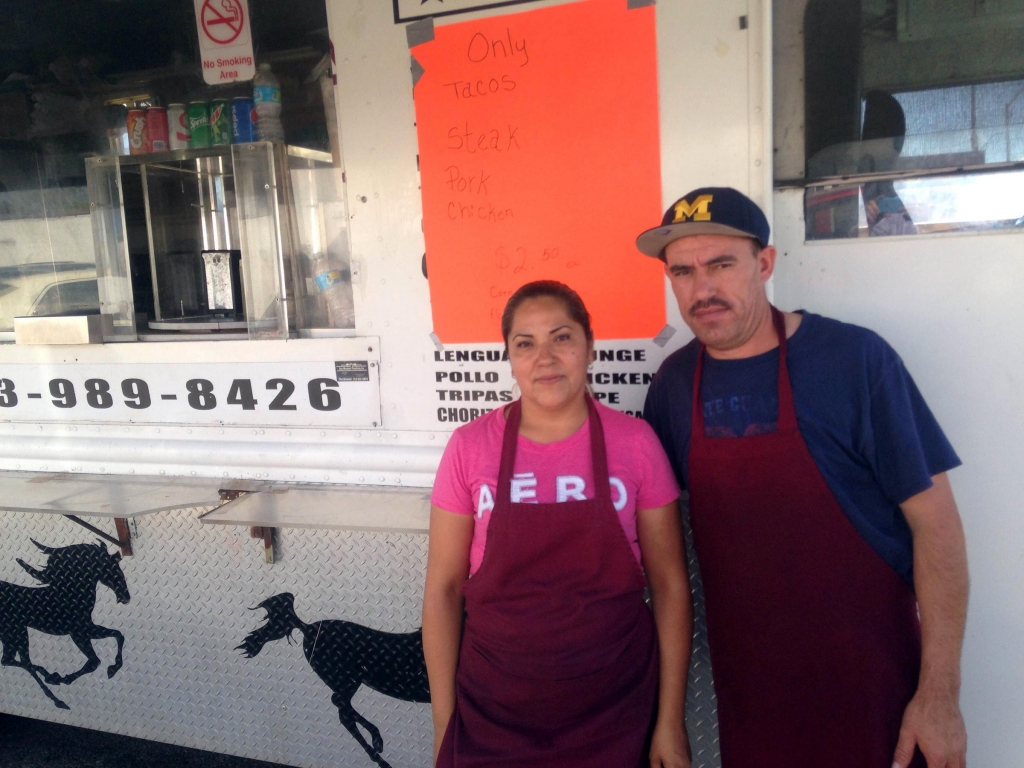
[[[331,701],[338,708],[341,724],[371,760],[391,768],[381,757],[381,732],[352,709],[352,696],[359,686],[368,685],[403,701],[429,701],[421,631],[398,635],[334,620],[304,624],[295,614],[295,598],[288,592],[267,598],[253,610],[259,608],[266,611],[266,624],[250,632],[238,649],[252,658],[266,643],[284,637],[291,642],[292,633],[301,632],[302,651],[313,672],[334,691]],[[369,743],[360,725],[370,734]]]

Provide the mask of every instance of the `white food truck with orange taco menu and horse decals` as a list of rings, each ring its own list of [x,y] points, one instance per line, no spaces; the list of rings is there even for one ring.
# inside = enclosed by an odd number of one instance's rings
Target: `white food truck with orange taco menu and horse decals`
[[[885,336],[964,459],[971,761],[1019,765],[1019,3],[25,5],[0,11],[0,712],[430,765],[429,494],[514,396],[505,301],[579,290],[594,394],[641,417],[691,336],[633,241],[731,185],[772,223],[774,302]],[[255,133],[207,136],[254,97]],[[183,145],[134,130],[162,110]]]

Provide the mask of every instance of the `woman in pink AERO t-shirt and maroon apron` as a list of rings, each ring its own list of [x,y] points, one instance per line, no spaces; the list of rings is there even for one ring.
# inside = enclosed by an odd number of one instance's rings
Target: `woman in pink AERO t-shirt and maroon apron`
[[[587,394],[594,336],[574,291],[523,286],[502,335],[522,396],[456,430],[431,497],[436,765],[688,768],[692,613],[669,462],[645,422]]]

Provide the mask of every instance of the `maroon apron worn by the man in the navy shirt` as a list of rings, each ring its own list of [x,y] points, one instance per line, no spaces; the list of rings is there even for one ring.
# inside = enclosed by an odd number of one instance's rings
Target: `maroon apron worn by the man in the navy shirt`
[[[913,592],[850,523],[797,426],[779,340],[778,428],[705,436],[701,346],[689,486],[723,768],[890,768],[913,696]],[[919,752],[913,766],[924,768]]]

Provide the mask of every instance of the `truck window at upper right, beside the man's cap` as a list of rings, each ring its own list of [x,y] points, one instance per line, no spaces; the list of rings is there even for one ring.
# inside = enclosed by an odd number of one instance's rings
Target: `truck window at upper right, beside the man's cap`
[[[1024,227],[1020,3],[799,4],[808,240]]]

